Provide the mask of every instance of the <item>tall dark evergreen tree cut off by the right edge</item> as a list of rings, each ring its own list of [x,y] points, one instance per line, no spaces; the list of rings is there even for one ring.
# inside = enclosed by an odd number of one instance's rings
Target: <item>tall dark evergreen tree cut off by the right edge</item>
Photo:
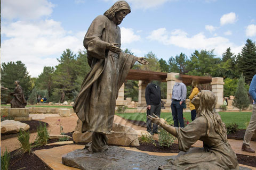
[[[241,56],[238,57],[238,68],[245,77],[245,82],[249,84],[256,73],[256,46],[255,42],[247,39],[242,48]]]

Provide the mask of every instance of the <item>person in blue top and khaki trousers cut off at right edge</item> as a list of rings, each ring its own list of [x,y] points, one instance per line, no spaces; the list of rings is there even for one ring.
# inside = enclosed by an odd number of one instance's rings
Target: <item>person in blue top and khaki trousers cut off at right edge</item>
[[[255,133],[256,130],[256,74],[252,78],[251,84],[250,84],[250,89],[249,89],[249,94],[251,95],[253,99],[253,105],[252,105],[252,116],[250,123],[245,131],[244,134],[244,142],[242,146],[242,150],[246,152],[255,152],[254,150],[251,149],[250,147],[250,141],[252,139],[253,133]]]

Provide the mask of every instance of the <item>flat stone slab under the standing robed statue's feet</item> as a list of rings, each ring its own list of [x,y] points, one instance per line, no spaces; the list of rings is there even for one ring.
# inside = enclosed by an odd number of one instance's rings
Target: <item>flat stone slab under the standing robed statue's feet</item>
[[[109,146],[101,153],[91,153],[87,149],[76,149],[62,156],[62,164],[83,170],[124,170],[124,169],[157,169],[159,165],[167,164],[170,156],[148,155],[143,152],[126,150]]]

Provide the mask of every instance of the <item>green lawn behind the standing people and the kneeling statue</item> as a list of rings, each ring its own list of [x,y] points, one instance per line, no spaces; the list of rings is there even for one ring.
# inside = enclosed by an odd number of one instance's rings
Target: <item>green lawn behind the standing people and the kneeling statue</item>
[[[252,112],[219,112],[222,121],[225,124],[236,123],[239,129],[246,129],[245,123],[250,121]],[[129,120],[137,120],[146,122],[146,113],[124,113],[116,115]],[[183,113],[183,116],[191,122],[190,112]],[[167,121],[172,120],[171,113],[161,113],[161,118],[166,118]]]

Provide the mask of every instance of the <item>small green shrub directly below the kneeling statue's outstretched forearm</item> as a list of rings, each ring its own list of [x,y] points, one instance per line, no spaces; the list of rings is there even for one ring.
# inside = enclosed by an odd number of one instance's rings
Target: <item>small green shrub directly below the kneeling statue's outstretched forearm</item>
[[[158,131],[159,131],[159,133],[158,133],[159,146],[168,147],[168,148],[170,146],[172,146],[174,143],[175,137],[171,133],[167,132],[166,130],[164,130],[161,127],[158,128]]]

